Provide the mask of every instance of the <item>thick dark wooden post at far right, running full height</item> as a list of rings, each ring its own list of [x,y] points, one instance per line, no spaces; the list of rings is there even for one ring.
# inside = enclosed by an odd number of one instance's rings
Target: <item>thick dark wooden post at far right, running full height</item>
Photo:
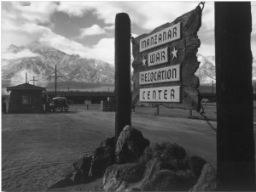
[[[255,184],[251,4],[215,3],[218,190]]]

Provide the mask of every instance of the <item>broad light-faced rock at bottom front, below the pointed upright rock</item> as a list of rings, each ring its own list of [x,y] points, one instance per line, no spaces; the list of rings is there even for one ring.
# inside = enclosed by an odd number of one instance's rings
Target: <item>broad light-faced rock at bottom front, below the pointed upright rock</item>
[[[114,164],[107,168],[102,188],[104,191],[123,191],[142,180],[145,167],[138,163]]]

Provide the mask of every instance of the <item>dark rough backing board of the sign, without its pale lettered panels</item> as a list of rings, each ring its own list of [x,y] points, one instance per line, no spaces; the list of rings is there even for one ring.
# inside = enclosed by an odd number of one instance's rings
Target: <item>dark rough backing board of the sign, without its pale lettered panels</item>
[[[144,37],[148,37],[155,32],[161,31],[168,26],[177,24],[181,22],[181,39],[160,45],[157,48],[151,48],[142,53],[139,53],[139,42]],[[143,34],[139,37],[132,38],[132,55],[134,61],[132,67],[134,73],[132,76],[132,81],[134,83],[134,93],[132,98],[137,99],[139,95],[139,89],[141,88],[159,88],[167,86],[181,86],[181,102],[180,103],[160,103],[160,102],[140,102],[137,100],[137,105],[144,104],[146,106],[157,106],[165,105],[168,108],[180,108],[189,110],[200,110],[200,99],[199,99],[199,78],[195,76],[195,71],[198,69],[200,62],[197,60],[197,50],[201,45],[199,38],[197,37],[197,31],[201,27],[201,7],[197,6],[194,10],[187,14],[183,14],[178,17],[172,23],[166,23],[155,28],[148,34]],[[143,59],[147,59],[147,55],[160,48],[169,48],[170,59],[168,63],[153,65],[148,67],[143,65]],[[177,58],[172,59],[172,50],[177,49]],[[150,85],[139,85],[139,73],[142,71],[150,71],[154,69],[160,69],[170,65],[181,65],[181,81],[180,82],[163,82]],[[134,104],[135,102],[133,102]]]

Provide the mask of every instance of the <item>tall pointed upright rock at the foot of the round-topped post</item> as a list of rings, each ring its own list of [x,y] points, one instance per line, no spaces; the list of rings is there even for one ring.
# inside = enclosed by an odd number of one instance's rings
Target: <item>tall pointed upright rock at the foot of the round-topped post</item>
[[[117,163],[139,162],[140,156],[143,155],[143,151],[149,144],[148,139],[144,138],[140,131],[125,126],[119,135],[115,148]]]

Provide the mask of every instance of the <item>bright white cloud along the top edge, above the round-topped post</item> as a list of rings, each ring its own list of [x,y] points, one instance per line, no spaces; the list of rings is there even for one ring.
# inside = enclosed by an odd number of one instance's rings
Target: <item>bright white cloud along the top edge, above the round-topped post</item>
[[[127,13],[132,25],[152,30],[158,25],[175,20],[177,16],[195,8],[198,3],[186,2],[61,2],[58,11],[82,17],[91,12],[106,25],[113,25],[115,16]],[[183,10],[183,13],[180,11]]]

